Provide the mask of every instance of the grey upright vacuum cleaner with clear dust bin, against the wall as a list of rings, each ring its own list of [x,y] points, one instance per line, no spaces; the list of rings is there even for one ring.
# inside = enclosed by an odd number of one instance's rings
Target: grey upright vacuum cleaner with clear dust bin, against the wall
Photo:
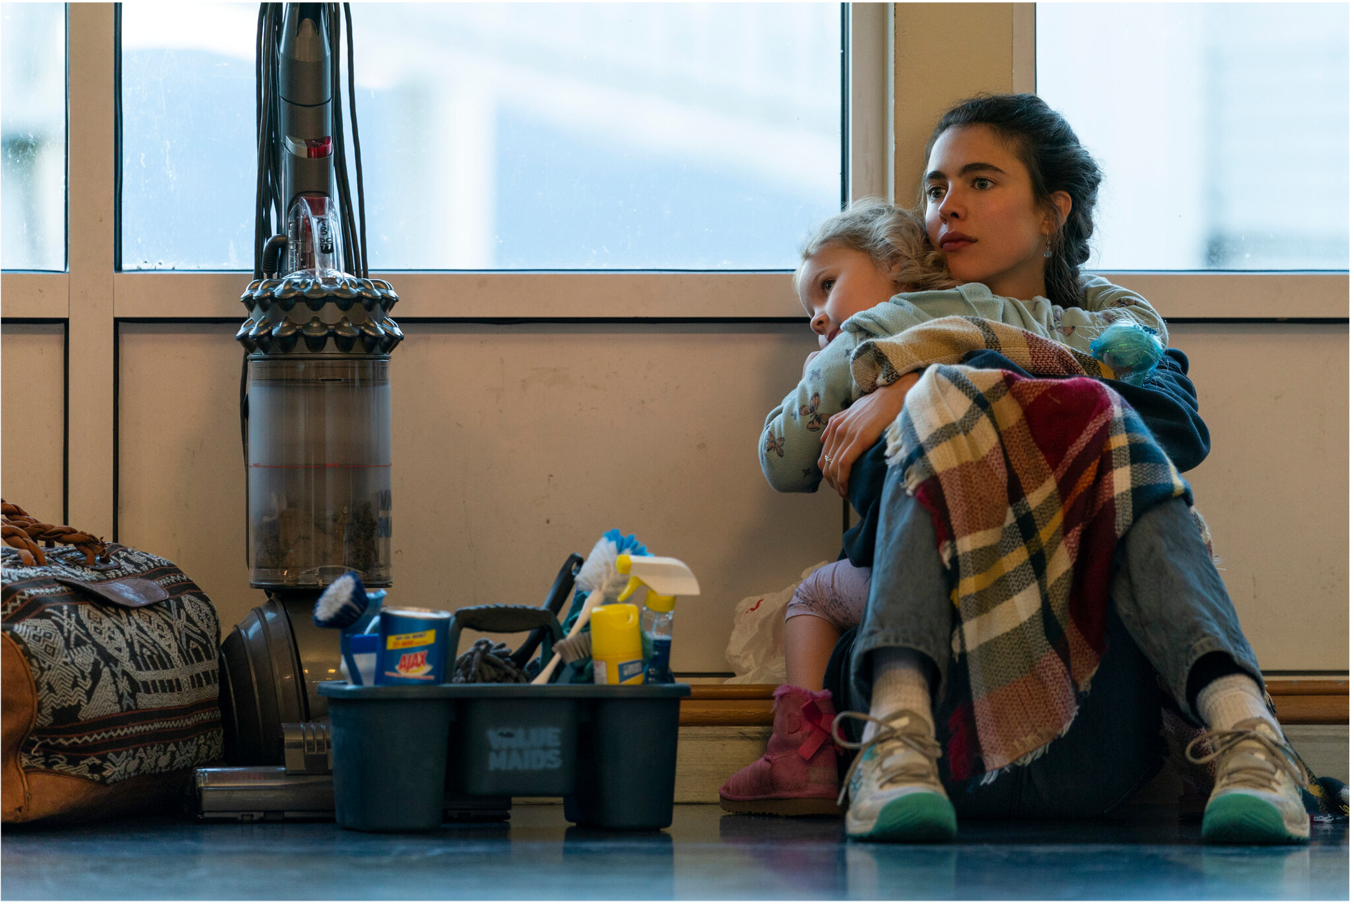
[[[245,346],[249,585],[268,598],[221,647],[232,766],[280,766],[298,744],[314,752],[317,728],[326,732],[313,723],[328,717],[317,685],[340,677],[337,632],[310,620],[315,600],[348,570],[368,587],[390,586],[389,368],[403,338],[390,319],[398,296],[367,271],[348,4],[260,4],[256,77],[255,273],[236,338]]]

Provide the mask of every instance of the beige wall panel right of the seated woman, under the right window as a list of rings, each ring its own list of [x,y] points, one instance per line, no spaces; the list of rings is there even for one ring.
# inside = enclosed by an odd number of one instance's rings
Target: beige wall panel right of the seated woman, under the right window
[[[1183,323],[1171,345],[1213,441],[1185,478],[1261,667],[1347,670],[1349,325]]]

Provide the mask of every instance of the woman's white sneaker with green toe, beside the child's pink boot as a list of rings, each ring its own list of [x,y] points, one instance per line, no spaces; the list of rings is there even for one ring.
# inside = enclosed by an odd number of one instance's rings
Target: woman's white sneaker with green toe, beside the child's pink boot
[[[911,710],[880,721],[865,713],[839,713],[879,725],[868,742],[846,747],[860,750],[842,785],[850,794],[846,834],[872,842],[948,842],[955,838],[955,807],[940,784],[936,762],[941,756],[930,724]],[[835,724],[833,735],[837,733]]]

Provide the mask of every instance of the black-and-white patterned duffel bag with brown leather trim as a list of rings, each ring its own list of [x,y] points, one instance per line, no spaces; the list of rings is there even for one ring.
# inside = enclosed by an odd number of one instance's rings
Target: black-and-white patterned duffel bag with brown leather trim
[[[177,808],[221,761],[211,601],[168,559],[0,516],[0,821]]]

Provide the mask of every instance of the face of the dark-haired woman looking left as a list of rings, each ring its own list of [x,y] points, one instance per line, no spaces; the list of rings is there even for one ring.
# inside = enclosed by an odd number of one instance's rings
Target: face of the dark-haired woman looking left
[[[1044,250],[1056,221],[1034,203],[1029,171],[987,126],[941,134],[926,161],[926,234],[964,283],[994,295],[1044,295]],[[1067,192],[1055,192],[1062,217]],[[1064,208],[1066,204],[1066,208]]]

